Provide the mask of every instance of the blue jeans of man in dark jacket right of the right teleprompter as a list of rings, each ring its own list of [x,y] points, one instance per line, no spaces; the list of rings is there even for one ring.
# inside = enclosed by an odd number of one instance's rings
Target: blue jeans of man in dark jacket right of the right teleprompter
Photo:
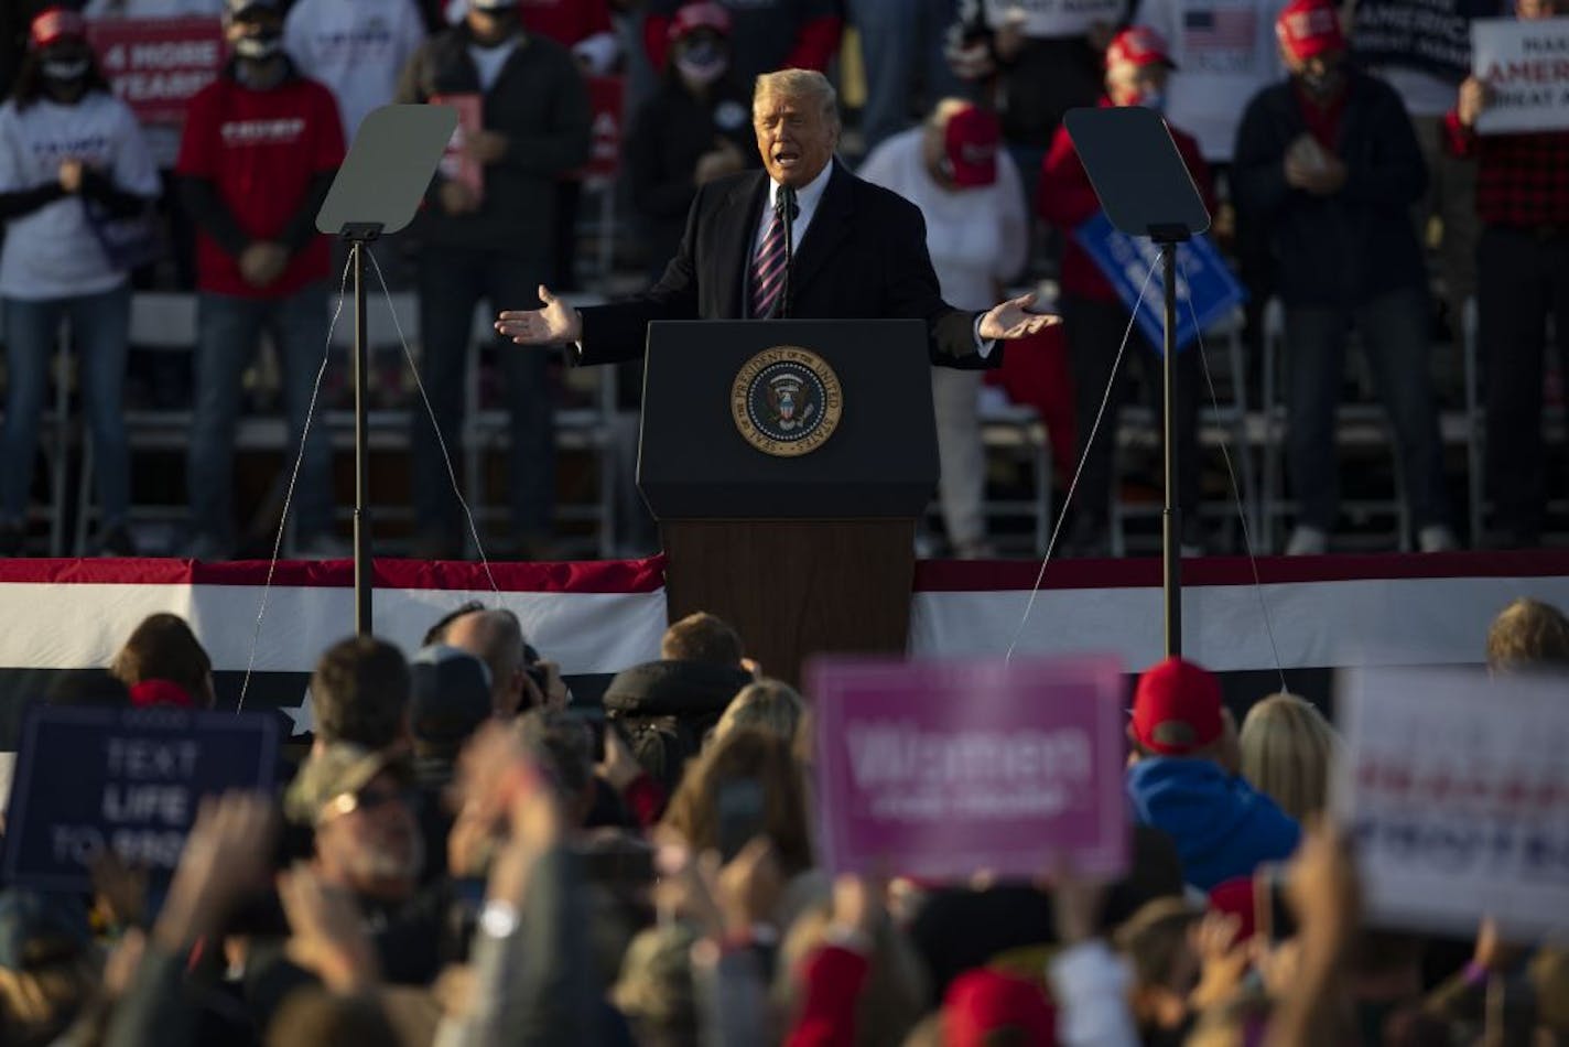
[[[1298,523],[1334,531],[1340,507],[1335,408],[1356,325],[1373,383],[1395,430],[1395,449],[1412,523],[1450,521],[1443,446],[1432,399],[1428,297],[1420,287],[1379,295],[1354,308],[1288,306],[1285,311],[1287,461],[1299,504]]]

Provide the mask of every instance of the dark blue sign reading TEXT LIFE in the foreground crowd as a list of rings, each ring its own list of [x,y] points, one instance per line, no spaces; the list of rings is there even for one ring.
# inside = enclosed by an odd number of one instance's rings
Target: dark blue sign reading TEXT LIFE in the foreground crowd
[[[6,813],[5,879],[83,888],[105,848],[173,871],[201,797],[271,793],[276,763],[271,713],[35,708]]]

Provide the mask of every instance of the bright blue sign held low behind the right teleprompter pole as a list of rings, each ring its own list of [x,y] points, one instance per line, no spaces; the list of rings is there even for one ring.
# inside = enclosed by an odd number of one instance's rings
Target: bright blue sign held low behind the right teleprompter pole
[[[1155,242],[1149,237],[1130,237],[1116,229],[1106,218],[1106,212],[1097,212],[1094,218],[1073,231],[1073,237],[1095,259],[1095,265],[1117,289],[1122,305],[1130,309],[1139,300],[1139,287],[1144,286],[1150,268],[1155,268],[1144,303],[1139,306],[1138,320],[1144,337],[1155,347],[1155,352],[1161,352],[1166,344],[1166,328],[1161,320],[1166,281],[1161,279],[1159,248],[1155,246]],[[1244,301],[1247,301],[1247,292],[1236,283],[1210,237],[1196,237],[1177,248],[1177,352],[1186,348],[1199,331],[1224,319]],[[1194,314],[1199,316],[1197,325],[1194,325]]]

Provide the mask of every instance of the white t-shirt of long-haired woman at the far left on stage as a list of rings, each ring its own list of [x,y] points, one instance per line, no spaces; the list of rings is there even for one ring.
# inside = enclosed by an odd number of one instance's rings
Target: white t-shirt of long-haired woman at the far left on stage
[[[137,118],[115,96],[93,91],[75,105],[39,99],[20,113],[14,100],[0,105],[0,193],[55,182],[61,160],[72,159],[99,166],[129,193],[158,195],[158,171]],[[6,223],[0,295],[96,295],[124,279],[124,272],[110,267],[78,196]]]

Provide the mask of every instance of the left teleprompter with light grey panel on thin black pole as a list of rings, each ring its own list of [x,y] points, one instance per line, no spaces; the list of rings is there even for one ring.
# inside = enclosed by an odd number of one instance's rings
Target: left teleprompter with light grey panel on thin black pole
[[[333,179],[315,228],[350,245],[355,273],[355,633],[370,634],[370,463],[367,425],[369,331],[366,330],[366,250],[380,235],[403,229],[425,198],[441,154],[458,126],[442,105],[383,105],[359,126]]]

